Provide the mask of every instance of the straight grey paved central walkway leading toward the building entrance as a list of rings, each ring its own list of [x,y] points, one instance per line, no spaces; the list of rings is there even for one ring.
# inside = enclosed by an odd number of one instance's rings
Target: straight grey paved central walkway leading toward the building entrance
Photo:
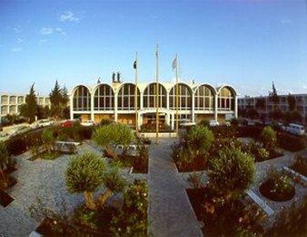
[[[203,236],[185,193],[182,178],[170,156],[174,139],[152,145],[149,158],[149,234]]]

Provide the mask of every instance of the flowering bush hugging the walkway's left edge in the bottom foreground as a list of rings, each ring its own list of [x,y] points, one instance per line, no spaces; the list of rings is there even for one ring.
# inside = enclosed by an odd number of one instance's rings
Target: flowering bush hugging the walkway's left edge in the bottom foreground
[[[148,188],[144,181],[134,180],[124,193],[123,208],[114,215],[111,230],[118,236],[145,236],[147,234]]]

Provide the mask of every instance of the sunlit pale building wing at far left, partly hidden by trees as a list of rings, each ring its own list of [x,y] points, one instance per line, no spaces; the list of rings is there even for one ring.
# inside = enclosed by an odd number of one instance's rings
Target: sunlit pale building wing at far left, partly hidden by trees
[[[36,98],[38,105],[50,107],[49,98],[43,96],[37,96]],[[1,120],[8,114],[18,115],[22,104],[25,104],[25,95],[0,94]]]

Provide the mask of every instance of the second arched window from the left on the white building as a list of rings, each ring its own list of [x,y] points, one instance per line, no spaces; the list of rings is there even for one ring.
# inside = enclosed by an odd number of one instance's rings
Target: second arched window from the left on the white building
[[[113,110],[114,92],[107,84],[101,84],[94,92],[94,110]]]

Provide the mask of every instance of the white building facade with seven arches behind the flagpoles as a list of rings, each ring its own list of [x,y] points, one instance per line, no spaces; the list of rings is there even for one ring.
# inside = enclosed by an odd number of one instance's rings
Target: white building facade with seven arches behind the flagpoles
[[[70,93],[70,117],[100,122],[135,125],[155,122],[156,83],[137,85],[137,109],[134,107],[135,84],[100,83],[94,87],[77,85]],[[228,120],[237,117],[237,93],[230,85],[215,88],[210,84],[178,83],[178,114],[181,122],[200,122],[203,119]],[[159,121],[174,127],[176,116],[176,84],[158,84]]]

